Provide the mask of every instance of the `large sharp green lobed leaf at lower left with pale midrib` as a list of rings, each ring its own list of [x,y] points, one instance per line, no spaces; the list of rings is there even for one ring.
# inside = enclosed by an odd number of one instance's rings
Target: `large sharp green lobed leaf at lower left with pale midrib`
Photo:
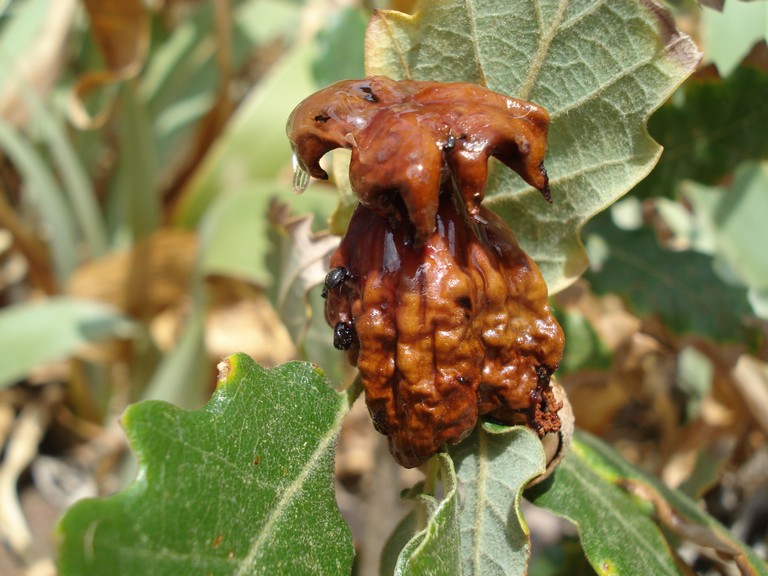
[[[60,573],[349,574],[351,535],[333,490],[349,401],[316,367],[266,370],[240,354],[201,410],[131,406],[123,422],[139,474],[67,512]]]

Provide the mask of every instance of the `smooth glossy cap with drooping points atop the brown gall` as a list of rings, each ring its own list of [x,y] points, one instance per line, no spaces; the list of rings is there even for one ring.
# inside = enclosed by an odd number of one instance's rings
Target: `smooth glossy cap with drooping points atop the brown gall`
[[[349,174],[360,202],[395,225],[400,197],[416,242],[435,229],[446,181],[477,215],[494,156],[550,201],[544,169],[549,114],[474,84],[390,80],[338,82],[293,111],[288,137],[299,165],[325,179],[320,158],[352,150]]]

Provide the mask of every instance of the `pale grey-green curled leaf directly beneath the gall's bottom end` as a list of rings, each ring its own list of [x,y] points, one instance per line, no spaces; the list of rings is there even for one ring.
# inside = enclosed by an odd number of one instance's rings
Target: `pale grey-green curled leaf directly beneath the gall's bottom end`
[[[382,576],[524,576],[530,540],[520,501],[545,469],[538,437],[522,426],[481,425],[438,458],[444,497],[411,496],[417,507],[387,542]],[[427,519],[421,529],[419,517]]]

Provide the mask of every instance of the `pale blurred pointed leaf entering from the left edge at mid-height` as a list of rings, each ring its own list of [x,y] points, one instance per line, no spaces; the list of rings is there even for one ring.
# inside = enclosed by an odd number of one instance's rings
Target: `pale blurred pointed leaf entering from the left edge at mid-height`
[[[85,344],[129,337],[135,328],[110,306],[64,296],[4,308],[0,311],[0,388],[36,366],[71,356]]]

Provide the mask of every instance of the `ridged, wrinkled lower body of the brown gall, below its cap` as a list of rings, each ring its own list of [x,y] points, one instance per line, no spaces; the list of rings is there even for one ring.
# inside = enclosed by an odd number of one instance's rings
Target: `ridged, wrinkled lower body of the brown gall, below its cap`
[[[407,219],[393,228],[360,205],[331,258],[347,273],[328,290],[326,319],[352,330],[347,354],[374,425],[405,467],[462,440],[480,415],[541,435],[560,426],[549,377],[563,333],[537,266],[492,212],[471,215],[450,191],[435,212],[418,243]]]

